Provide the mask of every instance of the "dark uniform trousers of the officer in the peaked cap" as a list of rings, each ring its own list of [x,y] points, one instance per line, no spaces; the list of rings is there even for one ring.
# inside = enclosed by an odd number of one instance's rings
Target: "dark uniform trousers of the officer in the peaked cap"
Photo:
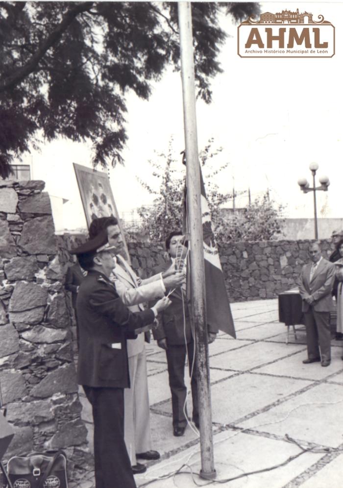
[[[93,408],[96,488],[136,488],[124,442],[123,388],[83,389]]]

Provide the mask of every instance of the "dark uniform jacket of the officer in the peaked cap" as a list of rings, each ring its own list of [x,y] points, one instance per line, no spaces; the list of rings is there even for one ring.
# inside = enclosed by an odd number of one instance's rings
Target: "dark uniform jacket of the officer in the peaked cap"
[[[106,276],[91,270],[76,300],[79,322],[79,385],[125,388],[130,385],[126,338],[151,324],[151,309],[132,313]]]

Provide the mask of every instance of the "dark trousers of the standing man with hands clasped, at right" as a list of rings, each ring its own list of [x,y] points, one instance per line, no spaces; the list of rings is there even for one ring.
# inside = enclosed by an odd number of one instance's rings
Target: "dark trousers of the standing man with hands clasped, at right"
[[[331,360],[330,312],[304,312],[307,354],[309,359]],[[320,346],[320,353],[319,353]]]

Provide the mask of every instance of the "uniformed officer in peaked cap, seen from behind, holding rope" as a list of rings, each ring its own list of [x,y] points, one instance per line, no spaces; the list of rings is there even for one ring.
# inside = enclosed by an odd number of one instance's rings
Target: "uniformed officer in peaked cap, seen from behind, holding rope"
[[[130,386],[126,338],[154,322],[170,304],[132,313],[109,276],[115,266],[107,233],[73,250],[88,271],[76,300],[79,320],[77,377],[93,408],[96,488],[136,487],[124,442],[123,388]]]

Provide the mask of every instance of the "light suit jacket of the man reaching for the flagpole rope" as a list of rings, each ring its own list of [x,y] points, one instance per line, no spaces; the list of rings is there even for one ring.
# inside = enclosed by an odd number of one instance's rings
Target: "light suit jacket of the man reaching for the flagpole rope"
[[[152,276],[138,285],[138,276],[122,256],[117,256],[117,266],[113,270],[113,282],[123,303],[133,312],[144,310],[144,304],[164,296],[160,277]],[[112,277],[111,277],[112,280]],[[150,332],[139,334],[135,340],[127,341],[128,357],[143,351],[144,339],[150,342]]]

